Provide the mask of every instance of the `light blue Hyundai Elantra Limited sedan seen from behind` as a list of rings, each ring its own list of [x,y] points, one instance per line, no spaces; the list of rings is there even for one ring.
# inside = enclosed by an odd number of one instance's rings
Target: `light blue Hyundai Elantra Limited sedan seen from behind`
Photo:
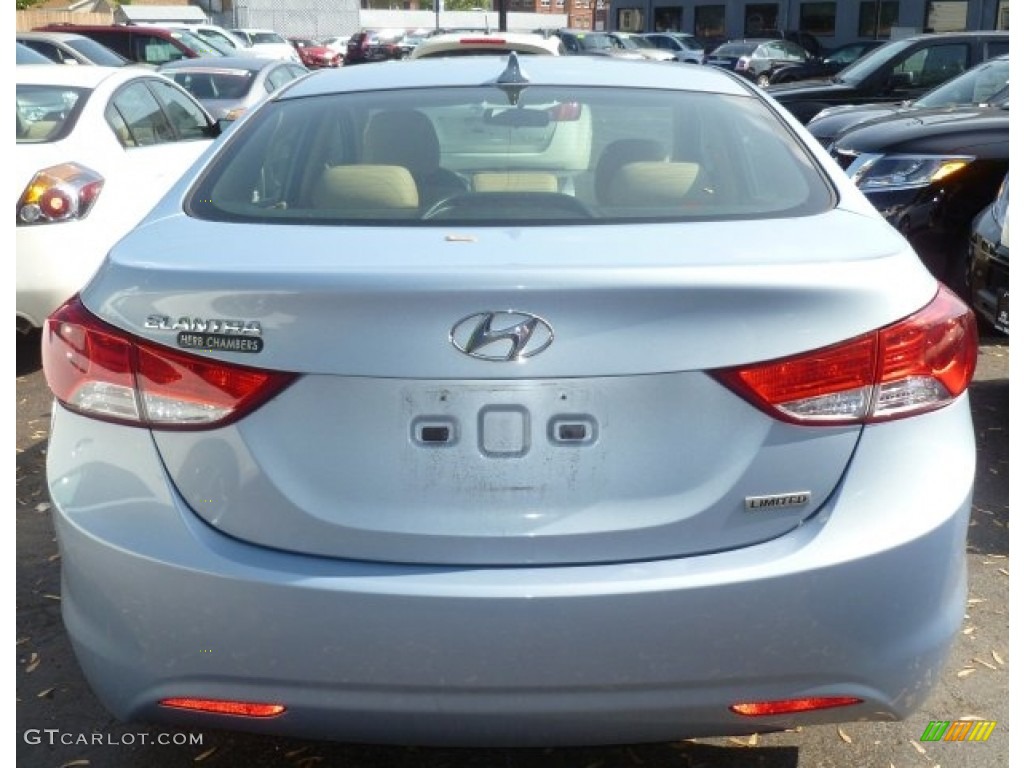
[[[906,717],[966,602],[974,315],[714,68],[325,71],[44,331],[121,719],[595,744]]]

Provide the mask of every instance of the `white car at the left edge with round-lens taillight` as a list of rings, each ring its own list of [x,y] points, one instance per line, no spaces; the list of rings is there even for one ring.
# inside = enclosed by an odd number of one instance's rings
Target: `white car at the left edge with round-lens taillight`
[[[19,67],[17,328],[42,326],[212,142],[216,123],[150,70]]]

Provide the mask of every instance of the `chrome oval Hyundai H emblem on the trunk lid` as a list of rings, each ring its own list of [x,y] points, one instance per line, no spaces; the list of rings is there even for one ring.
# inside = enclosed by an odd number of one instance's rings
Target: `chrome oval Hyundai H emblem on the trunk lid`
[[[452,327],[449,340],[464,354],[508,362],[540,354],[555,340],[547,321],[513,310],[476,312]]]

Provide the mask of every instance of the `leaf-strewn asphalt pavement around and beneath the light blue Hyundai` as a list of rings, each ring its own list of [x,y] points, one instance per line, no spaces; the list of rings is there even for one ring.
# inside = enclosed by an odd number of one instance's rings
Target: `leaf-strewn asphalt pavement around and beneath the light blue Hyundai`
[[[17,346],[16,765],[19,768],[1005,768],[1010,765],[1010,346],[983,339],[971,387],[978,475],[970,601],[949,664],[903,722],[743,738],[557,750],[340,744],[116,722],[90,692],[60,621],[59,555],[44,481],[50,398],[38,336]],[[931,721],[984,720],[987,741],[928,741]]]

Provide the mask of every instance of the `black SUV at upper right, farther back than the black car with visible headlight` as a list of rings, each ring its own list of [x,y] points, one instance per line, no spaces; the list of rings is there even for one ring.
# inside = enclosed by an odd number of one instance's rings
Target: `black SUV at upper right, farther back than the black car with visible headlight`
[[[918,98],[974,67],[1009,53],[1006,32],[956,32],[891,40],[833,78],[768,86],[802,123],[826,106]]]

